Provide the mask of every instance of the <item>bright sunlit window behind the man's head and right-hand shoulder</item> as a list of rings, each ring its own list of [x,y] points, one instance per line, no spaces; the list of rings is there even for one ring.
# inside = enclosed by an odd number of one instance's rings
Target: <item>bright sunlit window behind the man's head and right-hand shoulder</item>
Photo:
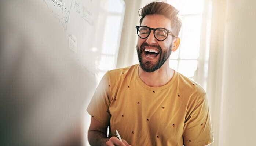
[[[172,52],[170,67],[198,82],[206,90],[209,58],[211,9],[204,0],[167,0],[180,11],[182,28],[179,49]],[[209,8],[211,8],[211,4]]]

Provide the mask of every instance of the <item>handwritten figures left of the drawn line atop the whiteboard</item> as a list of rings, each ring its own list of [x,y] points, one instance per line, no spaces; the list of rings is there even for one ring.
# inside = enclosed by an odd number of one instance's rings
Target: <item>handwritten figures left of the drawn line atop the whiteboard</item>
[[[50,12],[61,23],[64,30],[67,29],[69,13],[73,0],[43,0]]]

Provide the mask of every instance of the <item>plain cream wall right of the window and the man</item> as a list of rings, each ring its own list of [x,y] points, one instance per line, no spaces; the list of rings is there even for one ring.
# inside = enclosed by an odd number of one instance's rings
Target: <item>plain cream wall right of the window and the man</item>
[[[208,97],[214,146],[255,145],[256,1],[213,1]]]

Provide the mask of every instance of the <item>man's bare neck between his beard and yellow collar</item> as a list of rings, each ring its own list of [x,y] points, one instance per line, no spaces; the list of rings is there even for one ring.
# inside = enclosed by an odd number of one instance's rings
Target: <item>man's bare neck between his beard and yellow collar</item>
[[[174,70],[169,67],[169,64],[165,62],[161,68],[154,72],[145,72],[139,66],[139,77],[148,86],[151,87],[161,87],[167,84],[174,75]]]

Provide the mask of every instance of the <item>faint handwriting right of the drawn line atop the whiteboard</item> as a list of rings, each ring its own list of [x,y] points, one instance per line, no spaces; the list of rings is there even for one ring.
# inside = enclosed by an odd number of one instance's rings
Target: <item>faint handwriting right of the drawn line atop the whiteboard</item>
[[[92,3],[92,0],[90,2]],[[89,7],[85,7],[80,2],[75,1],[74,9],[89,25],[94,26],[93,12]]]

